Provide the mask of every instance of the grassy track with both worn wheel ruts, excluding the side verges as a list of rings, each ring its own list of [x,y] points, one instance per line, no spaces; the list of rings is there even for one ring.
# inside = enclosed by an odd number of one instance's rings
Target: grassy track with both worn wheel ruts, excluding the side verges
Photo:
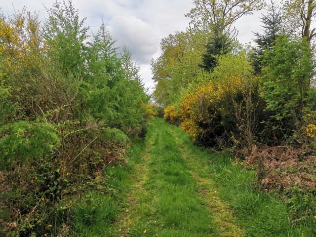
[[[164,120],[152,121],[126,210],[114,227],[118,236],[242,236],[213,181],[205,177],[206,159],[200,162],[200,151],[190,149],[186,138]]]

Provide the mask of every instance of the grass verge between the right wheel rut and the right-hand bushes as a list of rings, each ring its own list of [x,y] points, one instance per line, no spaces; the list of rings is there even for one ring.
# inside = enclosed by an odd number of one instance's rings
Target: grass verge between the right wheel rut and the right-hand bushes
[[[226,202],[236,217],[233,221],[241,226],[247,237],[311,237],[315,226],[291,222],[291,209],[276,194],[261,191],[256,185],[254,170],[244,168],[229,154],[209,153],[194,146],[190,137],[170,124],[193,172],[199,177],[213,181],[219,197]],[[301,203],[297,203],[299,208]],[[294,225],[295,224],[295,225]]]

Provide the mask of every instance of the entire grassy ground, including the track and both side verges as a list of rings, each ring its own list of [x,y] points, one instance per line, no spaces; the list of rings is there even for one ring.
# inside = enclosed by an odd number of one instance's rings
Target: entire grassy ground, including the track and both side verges
[[[291,223],[289,207],[280,197],[257,188],[254,170],[229,154],[193,145],[187,134],[163,119],[152,121],[144,144],[134,145],[129,154],[127,164],[105,170],[111,195],[87,193],[72,210],[72,236],[315,235],[313,224]]]

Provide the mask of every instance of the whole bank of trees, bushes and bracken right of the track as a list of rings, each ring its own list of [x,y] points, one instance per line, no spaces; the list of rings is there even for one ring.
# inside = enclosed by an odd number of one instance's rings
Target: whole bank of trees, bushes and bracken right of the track
[[[264,1],[194,4],[190,26],[161,40],[152,61],[164,118],[197,144],[230,149],[256,167],[258,186],[280,191],[291,223],[315,234],[316,3],[272,1],[256,46],[241,45],[232,24]]]

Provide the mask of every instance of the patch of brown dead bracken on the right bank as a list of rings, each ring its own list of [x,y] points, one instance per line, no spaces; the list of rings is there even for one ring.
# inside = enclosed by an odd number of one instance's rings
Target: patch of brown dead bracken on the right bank
[[[290,146],[252,147],[245,156],[246,166],[258,165],[263,188],[284,190],[297,186],[306,190],[316,189],[316,151]]]

